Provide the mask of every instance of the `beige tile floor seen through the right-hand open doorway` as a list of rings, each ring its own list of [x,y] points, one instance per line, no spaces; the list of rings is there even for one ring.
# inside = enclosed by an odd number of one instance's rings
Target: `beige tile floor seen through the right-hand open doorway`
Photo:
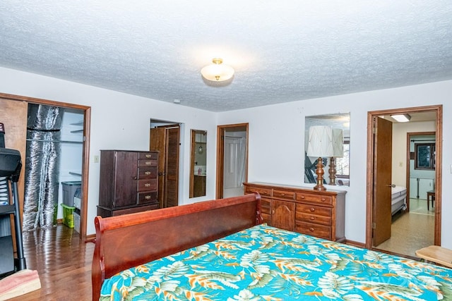
[[[415,257],[415,251],[434,244],[434,208],[426,199],[410,199],[410,212],[393,216],[391,238],[376,248]]]

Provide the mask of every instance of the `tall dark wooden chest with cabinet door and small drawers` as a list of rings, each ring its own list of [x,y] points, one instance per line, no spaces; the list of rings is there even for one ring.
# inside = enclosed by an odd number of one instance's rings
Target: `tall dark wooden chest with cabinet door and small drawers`
[[[101,150],[97,215],[158,209],[157,161],[158,152]]]

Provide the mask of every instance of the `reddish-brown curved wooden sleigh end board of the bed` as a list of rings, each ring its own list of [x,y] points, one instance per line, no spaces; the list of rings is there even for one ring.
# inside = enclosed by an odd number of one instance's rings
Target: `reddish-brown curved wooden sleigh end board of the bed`
[[[217,199],[136,214],[95,217],[93,300],[105,279],[133,266],[262,223],[258,194]]]

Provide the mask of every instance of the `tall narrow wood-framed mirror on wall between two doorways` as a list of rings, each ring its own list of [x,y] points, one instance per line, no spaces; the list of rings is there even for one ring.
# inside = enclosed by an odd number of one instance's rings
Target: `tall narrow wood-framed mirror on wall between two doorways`
[[[190,197],[206,195],[207,131],[191,130]]]

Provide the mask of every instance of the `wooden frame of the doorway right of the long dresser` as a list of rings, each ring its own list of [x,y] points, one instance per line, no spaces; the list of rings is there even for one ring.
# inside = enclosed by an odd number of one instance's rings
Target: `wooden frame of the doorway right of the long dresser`
[[[388,109],[381,111],[369,111],[367,112],[367,188],[366,188],[366,243],[365,247],[369,250],[374,249],[372,247],[372,212],[374,204],[374,183],[373,174],[374,166],[372,164],[374,158],[374,128],[373,119],[374,116],[390,115],[390,114],[403,114],[403,113],[417,113],[431,111],[436,115],[435,128],[436,128],[436,169],[435,169],[435,225],[434,225],[434,244],[441,245],[441,196],[442,196],[442,141],[443,141],[443,106],[417,106],[412,108],[403,109]],[[409,184],[408,184],[409,185]]]

